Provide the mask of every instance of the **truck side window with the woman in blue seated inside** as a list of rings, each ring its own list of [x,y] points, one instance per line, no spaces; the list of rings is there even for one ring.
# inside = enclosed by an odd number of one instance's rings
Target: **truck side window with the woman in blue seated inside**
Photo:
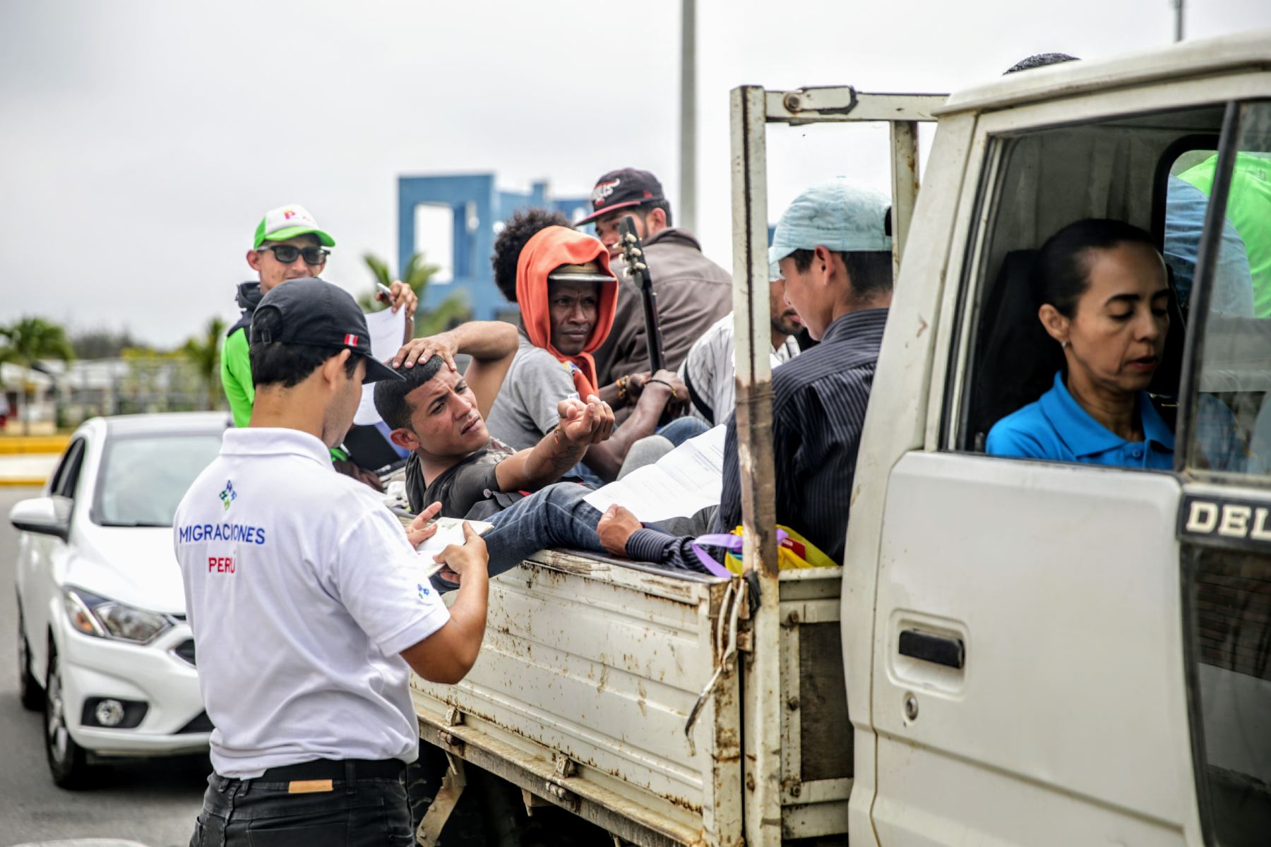
[[[1187,328],[1174,287],[1176,263],[1168,255],[1168,264],[1162,263],[1162,248],[1168,245],[1167,254],[1169,249],[1191,254],[1195,262],[1199,237],[1179,244],[1166,232],[1167,196],[1159,178],[1162,163],[1177,157],[1183,140],[1216,137],[1223,108],[1117,117],[993,140],[1000,152],[993,188],[981,199],[988,206],[981,229],[969,246],[977,260],[969,263],[963,281],[961,331],[970,338],[966,375],[956,405],[953,395],[948,404],[957,411],[946,422],[953,450],[1140,470],[1173,467]],[[1082,321],[1093,325],[1087,320],[1093,314],[1089,305],[1080,301],[1097,279],[1085,259],[1106,250],[1083,246],[1092,243],[1129,244],[1125,257],[1117,249],[1117,260],[1136,268],[1129,274],[1139,283],[1135,291],[1118,290],[1115,297],[1098,300],[1098,325],[1115,342],[1078,335]],[[1065,273],[1068,268],[1082,268],[1084,277]],[[1065,282],[1071,279],[1077,282]],[[1065,298],[1065,292],[1075,293]],[[1056,301],[1051,312],[1043,309],[1046,300]],[[1122,331],[1120,326],[1129,323],[1138,329]],[[1080,350],[1078,342],[1084,344]],[[1094,357],[1103,357],[1103,363],[1091,363]],[[1083,368],[1077,386],[1069,373],[1074,359]],[[1113,432],[1101,410],[1091,409],[1079,389],[1082,378],[1096,377],[1116,381],[1134,409],[1134,425]],[[1004,423],[994,434],[999,422]]]

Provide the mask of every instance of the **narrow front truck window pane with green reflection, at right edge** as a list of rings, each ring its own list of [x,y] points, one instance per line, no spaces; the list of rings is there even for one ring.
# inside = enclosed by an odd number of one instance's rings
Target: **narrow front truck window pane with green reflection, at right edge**
[[[1271,103],[1243,107],[1207,269],[1187,465],[1271,477]],[[1219,156],[1179,178],[1210,196]],[[1192,311],[1197,311],[1197,296]]]

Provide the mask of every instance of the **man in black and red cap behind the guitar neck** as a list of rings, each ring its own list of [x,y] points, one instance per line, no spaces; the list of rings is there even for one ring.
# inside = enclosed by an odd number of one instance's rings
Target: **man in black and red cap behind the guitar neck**
[[[623,168],[601,177],[591,192],[591,210],[578,225],[596,225],[596,237],[609,249],[619,278],[614,329],[592,353],[601,385],[649,368],[639,286],[625,274],[618,248],[618,222],[628,215],[644,243],[653,277],[666,367],[679,368],[693,342],[732,311],[732,278],[702,254],[691,232],[671,226],[671,204],[662,183],[647,170]]]

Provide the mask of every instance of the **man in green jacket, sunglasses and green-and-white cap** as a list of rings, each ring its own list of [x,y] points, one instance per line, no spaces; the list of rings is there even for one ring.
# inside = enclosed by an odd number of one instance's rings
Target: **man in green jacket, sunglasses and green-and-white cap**
[[[239,284],[238,305],[243,314],[226,333],[221,348],[221,385],[225,387],[225,397],[230,401],[235,427],[248,424],[252,418],[252,404],[255,400],[252,364],[248,359],[248,330],[257,303],[280,283],[320,276],[327,267],[327,257],[330,255],[327,248],[333,246],[336,240],[318,226],[318,221],[302,206],[280,206],[269,210],[257,225],[252,249],[247,251],[247,263],[255,270],[258,279]],[[411,287],[403,282],[394,282],[390,290],[393,310],[404,307],[408,315],[414,314],[418,298]],[[336,470],[379,488],[379,480],[348,461],[342,450],[333,448],[330,456]]]

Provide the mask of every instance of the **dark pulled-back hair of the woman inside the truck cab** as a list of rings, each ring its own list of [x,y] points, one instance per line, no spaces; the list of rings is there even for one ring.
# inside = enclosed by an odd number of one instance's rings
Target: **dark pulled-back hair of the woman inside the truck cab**
[[[1046,239],[1033,260],[1032,283],[1037,306],[1050,303],[1064,317],[1077,312],[1077,301],[1091,287],[1092,250],[1108,250],[1118,244],[1157,243],[1138,226],[1111,218],[1085,218],[1069,223]]]

